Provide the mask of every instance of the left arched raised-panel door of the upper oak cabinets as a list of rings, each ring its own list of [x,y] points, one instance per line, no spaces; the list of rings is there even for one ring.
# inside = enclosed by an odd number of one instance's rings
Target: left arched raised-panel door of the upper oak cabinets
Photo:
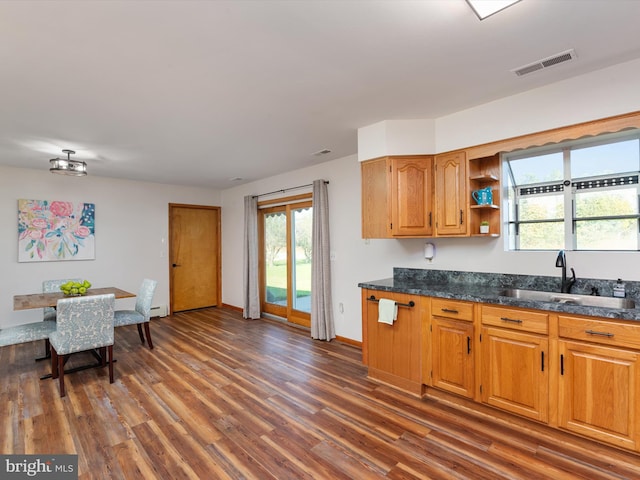
[[[433,159],[391,159],[391,234],[430,236],[432,227]]]

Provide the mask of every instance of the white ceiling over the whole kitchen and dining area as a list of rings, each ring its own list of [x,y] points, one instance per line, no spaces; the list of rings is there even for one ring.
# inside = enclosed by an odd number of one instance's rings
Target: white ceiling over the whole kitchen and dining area
[[[354,154],[359,127],[639,58],[639,19],[638,0],[483,21],[465,0],[2,1],[0,164],[70,148],[90,175],[229,188]]]

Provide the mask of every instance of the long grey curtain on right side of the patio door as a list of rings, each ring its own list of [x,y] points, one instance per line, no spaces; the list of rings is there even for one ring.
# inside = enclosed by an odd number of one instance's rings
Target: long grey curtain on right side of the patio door
[[[313,182],[313,232],[311,261],[311,338],[336,338],[331,302],[331,264],[329,262],[329,196],[327,182]]]

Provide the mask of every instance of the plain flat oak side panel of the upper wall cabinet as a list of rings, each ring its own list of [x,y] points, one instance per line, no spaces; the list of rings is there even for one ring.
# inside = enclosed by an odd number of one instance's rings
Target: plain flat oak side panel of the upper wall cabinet
[[[390,173],[386,158],[360,164],[362,180],[362,238],[388,238]]]

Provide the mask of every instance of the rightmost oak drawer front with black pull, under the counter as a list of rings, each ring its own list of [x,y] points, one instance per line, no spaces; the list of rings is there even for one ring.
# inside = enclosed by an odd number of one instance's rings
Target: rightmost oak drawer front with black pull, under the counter
[[[559,315],[558,335],[574,340],[640,349],[640,323],[635,325]]]

